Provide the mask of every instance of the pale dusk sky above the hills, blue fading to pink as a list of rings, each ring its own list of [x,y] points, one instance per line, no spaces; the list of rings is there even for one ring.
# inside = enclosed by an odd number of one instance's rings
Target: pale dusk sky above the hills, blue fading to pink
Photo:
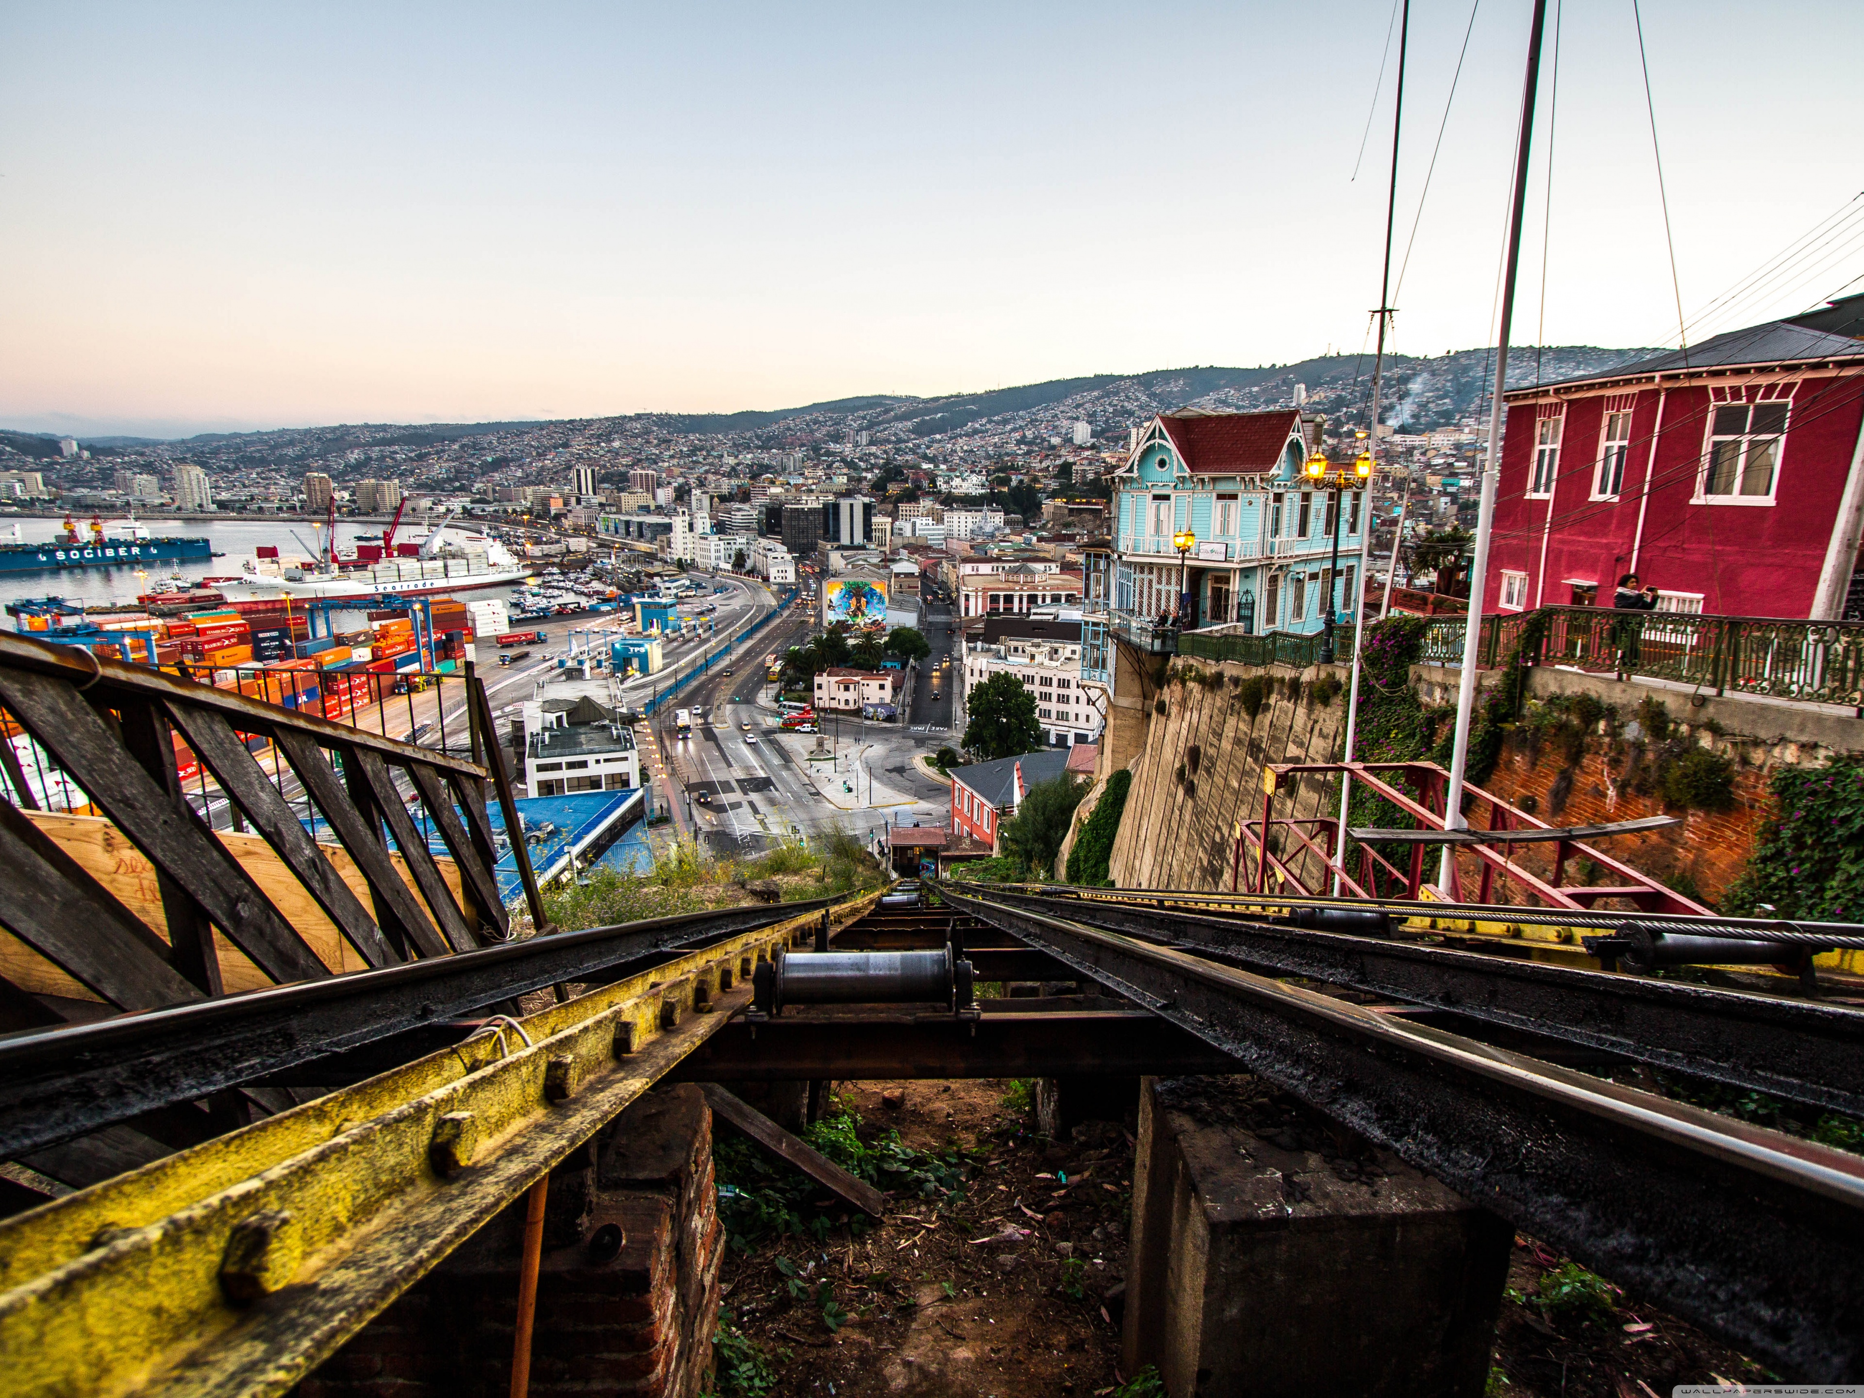
[[[1558,9],[1515,339],[1674,343],[1631,0]],[[779,408],[1357,352],[1391,17],[13,0],[0,425]],[[1419,218],[1471,6],[1413,4],[1402,352],[1491,343],[1528,17],[1482,0]],[[1642,19],[1694,313],[1864,190],[1864,88],[1829,63],[1864,6]],[[1864,233],[1691,337],[1860,274]]]

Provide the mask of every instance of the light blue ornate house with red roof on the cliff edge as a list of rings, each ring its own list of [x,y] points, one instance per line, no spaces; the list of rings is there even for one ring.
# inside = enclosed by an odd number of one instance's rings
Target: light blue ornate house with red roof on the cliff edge
[[[1139,623],[1174,615],[1186,630],[1305,634],[1325,624],[1331,593],[1350,623],[1364,492],[1342,500],[1307,483],[1322,425],[1299,408],[1154,418],[1113,477],[1113,611]],[[1180,557],[1184,531],[1195,541]]]

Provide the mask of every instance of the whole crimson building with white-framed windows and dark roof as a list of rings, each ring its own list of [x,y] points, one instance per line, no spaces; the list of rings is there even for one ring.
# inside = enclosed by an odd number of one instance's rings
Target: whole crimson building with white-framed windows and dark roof
[[[1506,401],[1484,611],[1864,619],[1864,296]]]

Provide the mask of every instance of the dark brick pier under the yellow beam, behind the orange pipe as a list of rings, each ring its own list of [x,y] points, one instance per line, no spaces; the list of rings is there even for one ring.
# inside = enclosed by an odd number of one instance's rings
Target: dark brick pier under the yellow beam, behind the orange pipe
[[[531,1392],[692,1398],[708,1387],[723,1228],[712,1113],[651,1092],[550,1176]],[[501,1398],[524,1200],[298,1385],[302,1398]]]

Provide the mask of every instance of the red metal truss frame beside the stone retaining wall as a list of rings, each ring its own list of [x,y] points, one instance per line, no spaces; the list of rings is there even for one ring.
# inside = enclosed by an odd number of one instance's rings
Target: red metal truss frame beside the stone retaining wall
[[[1448,787],[1450,774],[1445,772],[1435,762],[1277,762],[1266,766],[1269,781],[1264,783],[1262,794],[1262,818],[1247,820],[1236,837],[1234,854],[1230,859],[1230,889],[1241,891],[1245,854],[1254,856],[1254,891],[1268,893],[1269,870],[1277,870],[1295,887],[1310,895],[1329,895],[1333,893],[1335,876],[1340,880],[1340,891],[1355,898],[1419,898],[1424,889],[1424,854],[1439,846],[1413,844],[1409,869],[1398,869],[1385,856],[1381,856],[1372,846],[1359,843],[1355,852],[1359,856],[1357,878],[1348,872],[1344,861],[1336,857],[1340,850],[1340,820],[1336,816],[1303,816],[1303,818],[1277,818],[1275,816],[1275,792],[1281,788],[1282,781],[1299,774],[1320,774],[1320,775],[1344,775],[1351,774],[1353,781],[1370,790],[1376,796],[1391,802],[1398,811],[1404,811],[1413,820],[1417,820],[1422,829],[1445,829],[1445,792]],[[1385,775],[1402,777],[1419,794],[1411,796],[1400,790]],[[1484,790],[1482,787],[1469,785],[1463,788],[1471,798],[1469,824],[1474,829],[1553,829],[1545,820],[1536,820],[1527,811],[1521,811],[1501,796]],[[1268,848],[1268,835],[1271,831],[1284,831],[1288,837],[1299,843],[1303,854],[1314,854],[1322,865],[1320,887],[1309,887],[1288,863]],[[1530,874],[1519,863],[1514,861],[1510,846],[1506,844],[1458,844],[1460,854],[1473,854],[1482,869],[1482,880],[1476,889],[1474,902],[1493,902],[1495,895],[1495,876],[1501,874],[1504,880],[1519,882],[1542,906],[1545,908],[1573,908],[1584,910],[1594,906],[1601,898],[1625,898],[1640,911],[1648,913],[1707,913],[1700,902],[1685,898],[1681,893],[1665,887],[1648,874],[1633,869],[1622,859],[1614,859],[1609,854],[1601,854],[1597,848],[1583,841],[1556,841],[1553,846],[1553,878],[1543,880]],[[1573,857],[1590,859],[1599,869],[1609,870],[1616,876],[1610,885],[1562,885],[1560,880],[1566,876],[1568,865]],[[1471,902],[1463,891],[1461,861],[1450,861],[1450,887],[1445,889],[1452,902]],[[1381,870],[1383,884],[1381,889]]]

